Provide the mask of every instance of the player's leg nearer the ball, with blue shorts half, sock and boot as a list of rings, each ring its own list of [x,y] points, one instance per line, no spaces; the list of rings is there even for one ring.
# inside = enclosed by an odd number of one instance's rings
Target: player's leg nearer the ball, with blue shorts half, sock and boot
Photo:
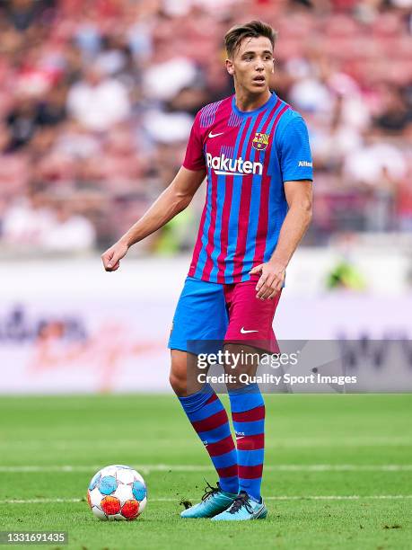
[[[223,340],[226,327],[221,285],[188,278],[174,315],[169,341],[170,381],[212,459],[219,482],[216,487],[208,485],[202,500],[184,510],[180,514],[182,518],[212,518],[225,510],[238,492],[236,449],[227,414],[214,389],[198,383],[194,376],[197,353],[190,352],[206,352],[207,342]],[[205,342],[203,351],[202,342]]]

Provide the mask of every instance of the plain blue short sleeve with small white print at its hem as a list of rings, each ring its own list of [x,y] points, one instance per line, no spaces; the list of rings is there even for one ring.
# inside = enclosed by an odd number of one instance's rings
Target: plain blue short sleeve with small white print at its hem
[[[313,180],[308,129],[301,116],[287,123],[279,140],[278,155],[284,182]]]

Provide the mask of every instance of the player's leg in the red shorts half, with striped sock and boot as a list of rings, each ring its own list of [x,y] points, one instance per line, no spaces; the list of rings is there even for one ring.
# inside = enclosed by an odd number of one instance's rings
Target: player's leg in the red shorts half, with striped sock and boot
[[[280,295],[274,300],[256,298],[256,281],[240,283],[229,296],[229,327],[225,350],[230,352],[225,370],[237,379],[228,386],[236,434],[240,491],[238,498],[215,520],[264,519],[267,508],[260,494],[264,458],[265,404],[259,386],[245,384],[254,377],[262,352],[278,353],[273,318]]]

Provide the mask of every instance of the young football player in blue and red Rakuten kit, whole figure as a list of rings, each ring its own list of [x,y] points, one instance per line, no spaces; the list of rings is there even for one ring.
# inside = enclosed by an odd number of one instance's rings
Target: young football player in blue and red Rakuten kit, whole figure
[[[212,386],[188,383],[191,342],[224,341],[242,351],[277,352],[272,324],[285,268],[311,220],[312,163],[302,117],[269,90],[275,31],[253,21],[225,36],[235,93],[197,113],[180,172],[153,206],[102,255],[116,271],[128,248],[186,208],[207,177],[206,204],[173,319],[171,386],[212,459],[219,483],[183,518],[263,519],[260,495],[265,406],[259,386],[228,385],[234,445]],[[252,375],[257,364],[224,366]],[[190,374],[190,372],[189,372]]]

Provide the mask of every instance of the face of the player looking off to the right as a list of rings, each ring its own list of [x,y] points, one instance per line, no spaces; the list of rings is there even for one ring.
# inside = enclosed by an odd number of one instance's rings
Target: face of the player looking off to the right
[[[270,75],[274,73],[273,48],[269,39],[246,38],[226,60],[226,68],[233,75],[237,87],[247,93],[262,93],[269,86]]]

